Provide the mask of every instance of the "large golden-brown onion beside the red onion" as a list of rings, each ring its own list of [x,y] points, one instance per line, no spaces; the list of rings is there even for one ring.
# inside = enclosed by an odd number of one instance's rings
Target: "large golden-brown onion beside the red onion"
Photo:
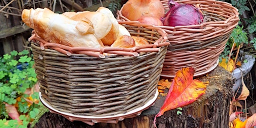
[[[137,20],[141,16],[164,17],[164,7],[160,0],[128,0],[123,4],[121,14],[129,20]]]

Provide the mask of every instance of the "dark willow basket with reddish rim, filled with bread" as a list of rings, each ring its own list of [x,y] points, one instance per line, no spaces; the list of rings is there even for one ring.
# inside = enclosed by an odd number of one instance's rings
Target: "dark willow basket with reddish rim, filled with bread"
[[[53,44],[35,34],[29,38],[40,93],[54,109],[75,115],[115,115],[154,96],[169,45],[167,33],[132,21],[119,23],[151,44],[95,49]]]

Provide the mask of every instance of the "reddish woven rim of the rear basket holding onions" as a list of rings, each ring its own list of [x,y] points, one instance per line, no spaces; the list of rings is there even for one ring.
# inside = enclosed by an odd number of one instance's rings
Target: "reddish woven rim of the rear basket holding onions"
[[[168,0],[160,0],[163,4],[167,3]],[[224,1],[218,1],[218,0],[175,0],[176,2],[187,2],[187,3],[212,3],[212,4],[221,4],[224,6],[228,6],[231,9],[228,9],[230,12],[233,13],[232,16],[228,17],[226,20],[222,21],[207,21],[203,22],[201,24],[195,24],[195,25],[179,25],[179,26],[156,26],[163,28],[165,31],[168,29],[168,31],[173,32],[173,31],[194,31],[194,32],[200,32],[200,31],[207,31],[208,27],[223,27],[223,24],[226,24],[226,26],[234,25],[232,22],[236,22],[235,24],[238,24],[239,21],[239,12],[238,9],[232,6],[232,4]],[[123,6],[120,8],[120,10],[117,10],[117,19],[121,20],[124,19],[125,21],[131,21],[125,16],[121,14]],[[167,9],[169,10],[169,8]],[[166,12],[165,12],[166,13]],[[136,21],[137,23],[140,23],[139,21]],[[141,23],[142,24],[142,23]],[[197,29],[194,29],[194,28]],[[168,32],[167,31],[167,32]]]

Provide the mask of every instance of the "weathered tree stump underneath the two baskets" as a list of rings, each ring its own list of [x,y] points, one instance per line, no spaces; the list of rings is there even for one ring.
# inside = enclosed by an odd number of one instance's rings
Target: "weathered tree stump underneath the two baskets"
[[[229,103],[232,97],[232,85],[234,79],[232,75],[217,66],[207,75],[198,77],[201,81],[209,81],[206,92],[193,103],[183,106],[182,110],[172,109],[164,112],[156,118],[157,127],[229,127]],[[51,127],[111,127],[111,128],[130,128],[130,127],[153,127],[153,118],[162,106],[165,96],[159,95],[153,106],[142,111],[136,117],[125,118],[117,123],[95,123],[88,125],[82,121],[69,121],[65,117],[45,112],[34,125],[34,128]],[[182,114],[177,114],[181,111]]]

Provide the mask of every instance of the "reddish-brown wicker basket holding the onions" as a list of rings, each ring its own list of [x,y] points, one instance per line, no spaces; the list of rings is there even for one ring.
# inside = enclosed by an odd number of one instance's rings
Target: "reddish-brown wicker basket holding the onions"
[[[218,56],[238,23],[238,11],[230,3],[217,0],[175,1],[199,5],[205,21],[198,25],[157,26],[168,33],[170,42],[161,76],[173,77],[177,70],[186,66],[195,69],[194,76],[207,73],[217,65]],[[169,10],[168,0],[161,2],[166,13]],[[117,11],[117,19],[129,21],[121,14],[121,9]]]

